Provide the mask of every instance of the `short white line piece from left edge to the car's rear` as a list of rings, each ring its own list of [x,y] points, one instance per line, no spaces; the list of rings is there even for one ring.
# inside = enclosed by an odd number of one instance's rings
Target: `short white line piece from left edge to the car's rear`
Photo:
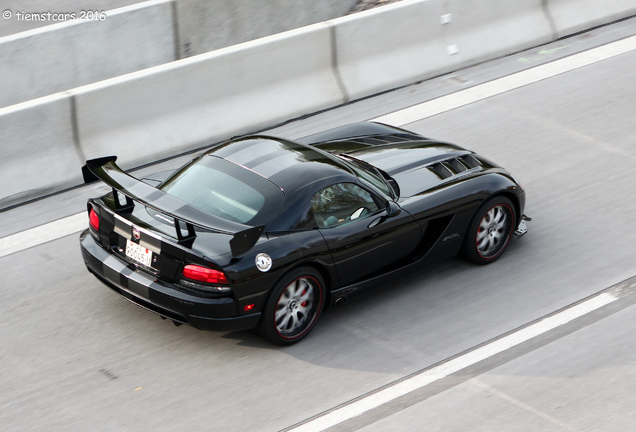
[[[88,227],[85,212],[58,219],[0,239],[0,258],[33,246],[57,240]]]

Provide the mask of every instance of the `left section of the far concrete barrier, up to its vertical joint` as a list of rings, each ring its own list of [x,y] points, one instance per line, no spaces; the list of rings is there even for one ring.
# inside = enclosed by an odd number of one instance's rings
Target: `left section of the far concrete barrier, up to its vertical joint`
[[[159,0],[0,38],[0,107],[173,61],[173,23]]]

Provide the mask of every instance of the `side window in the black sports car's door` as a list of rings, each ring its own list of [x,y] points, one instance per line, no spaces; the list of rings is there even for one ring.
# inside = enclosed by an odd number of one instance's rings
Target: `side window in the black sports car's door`
[[[353,183],[338,183],[311,197],[311,213],[318,228],[365,218],[379,208],[369,192]]]

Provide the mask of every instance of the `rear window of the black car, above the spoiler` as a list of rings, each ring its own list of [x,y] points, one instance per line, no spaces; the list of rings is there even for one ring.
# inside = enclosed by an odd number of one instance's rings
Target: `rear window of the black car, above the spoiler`
[[[159,189],[207,213],[250,226],[269,226],[285,199],[266,178],[211,155],[195,159]]]

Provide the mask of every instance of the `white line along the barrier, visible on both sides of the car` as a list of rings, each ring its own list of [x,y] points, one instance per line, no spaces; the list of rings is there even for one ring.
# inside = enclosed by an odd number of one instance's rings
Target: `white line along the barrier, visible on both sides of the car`
[[[502,94],[546,78],[624,54],[634,49],[636,49],[636,36],[612,42],[588,51],[583,51],[570,57],[555,60],[551,63],[517,72],[466,90],[461,90],[419,105],[395,111],[372,119],[371,121],[379,121],[382,123],[392,124],[394,126],[404,126],[408,123],[413,123],[436,114],[441,114],[443,112]],[[81,215],[83,215],[83,213],[69,216],[65,219],[60,219],[59,221],[41,225],[39,227],[0,239],[0,258],[64,237],[72,234],[73,232],[81,231],[86,225],[85,223],[80,224],[78,222],[79,218],[82,217]],[[75,223],[62,222],[67,220],[71,222],[75,221]]]

